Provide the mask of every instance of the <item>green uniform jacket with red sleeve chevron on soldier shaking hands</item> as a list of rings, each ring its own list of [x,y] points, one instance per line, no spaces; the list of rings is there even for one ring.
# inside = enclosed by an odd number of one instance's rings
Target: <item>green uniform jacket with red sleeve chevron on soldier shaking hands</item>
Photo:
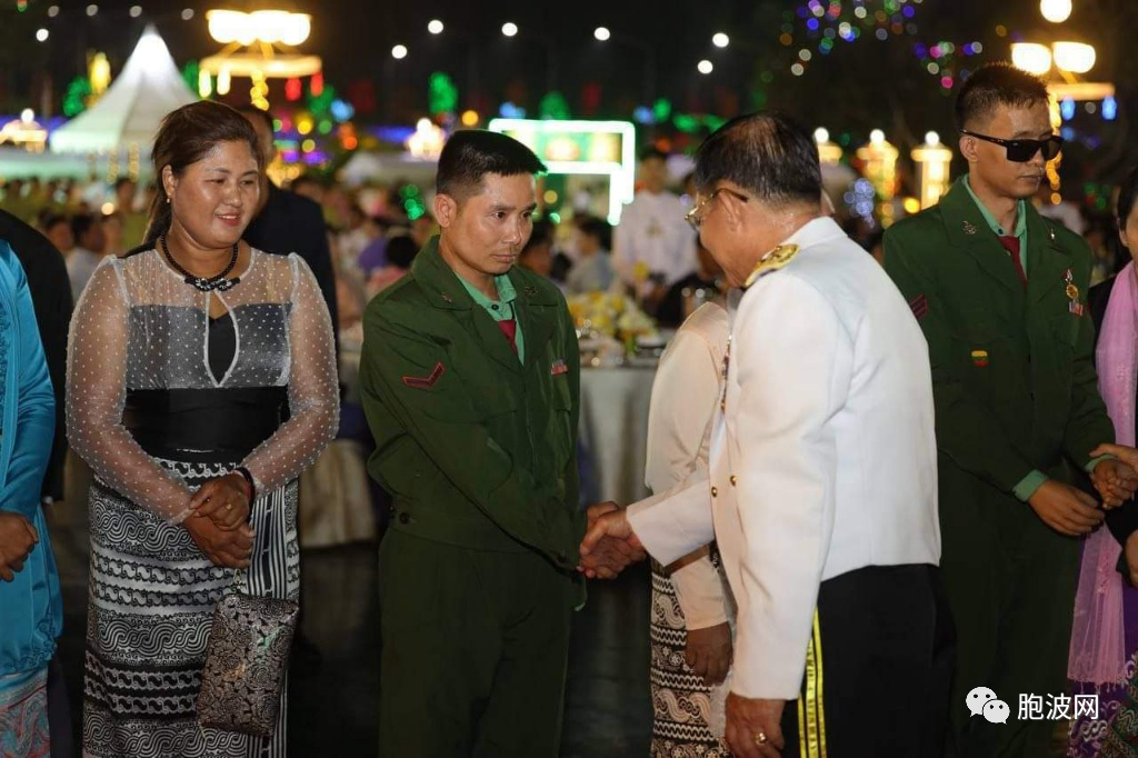
[[[364,315],[368,469],[391,528],[468,549],[538,551],[570,572],[578,508],[580,360],[564,298],[514,266],[525,363],[442,259],[435,238]]]

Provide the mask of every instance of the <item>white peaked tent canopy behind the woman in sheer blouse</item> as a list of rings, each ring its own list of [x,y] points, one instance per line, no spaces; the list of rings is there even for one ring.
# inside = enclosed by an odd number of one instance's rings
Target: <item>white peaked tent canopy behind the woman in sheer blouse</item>
[[[52,153],[149,153],[163,117],[197,100],[152,24],[122,73],[89,110],[51,134]]]

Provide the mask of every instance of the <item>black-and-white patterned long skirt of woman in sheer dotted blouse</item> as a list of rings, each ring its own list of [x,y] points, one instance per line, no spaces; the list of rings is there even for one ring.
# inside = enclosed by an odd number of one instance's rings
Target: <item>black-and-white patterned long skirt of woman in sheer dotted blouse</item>
[[[159,461],[191,487],[237,463]],[[211,563],[181,526],[96,481],[84,686],[84,756],[283,758],[287,703],[272,740],[203,728],[195,705],[213,608],[234,572]],[[246,572],[254,595],[299,600],[297,484],[264,493]],[[287,692],[287,687],[286,687]]]

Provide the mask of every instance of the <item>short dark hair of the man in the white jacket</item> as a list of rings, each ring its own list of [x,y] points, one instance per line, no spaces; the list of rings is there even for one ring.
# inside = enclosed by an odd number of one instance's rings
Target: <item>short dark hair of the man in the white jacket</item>
[[[695,151],[695,187],[731,181],[774,206],[818,205],[822,166],[814,135],[782,114],[732,118]]]

